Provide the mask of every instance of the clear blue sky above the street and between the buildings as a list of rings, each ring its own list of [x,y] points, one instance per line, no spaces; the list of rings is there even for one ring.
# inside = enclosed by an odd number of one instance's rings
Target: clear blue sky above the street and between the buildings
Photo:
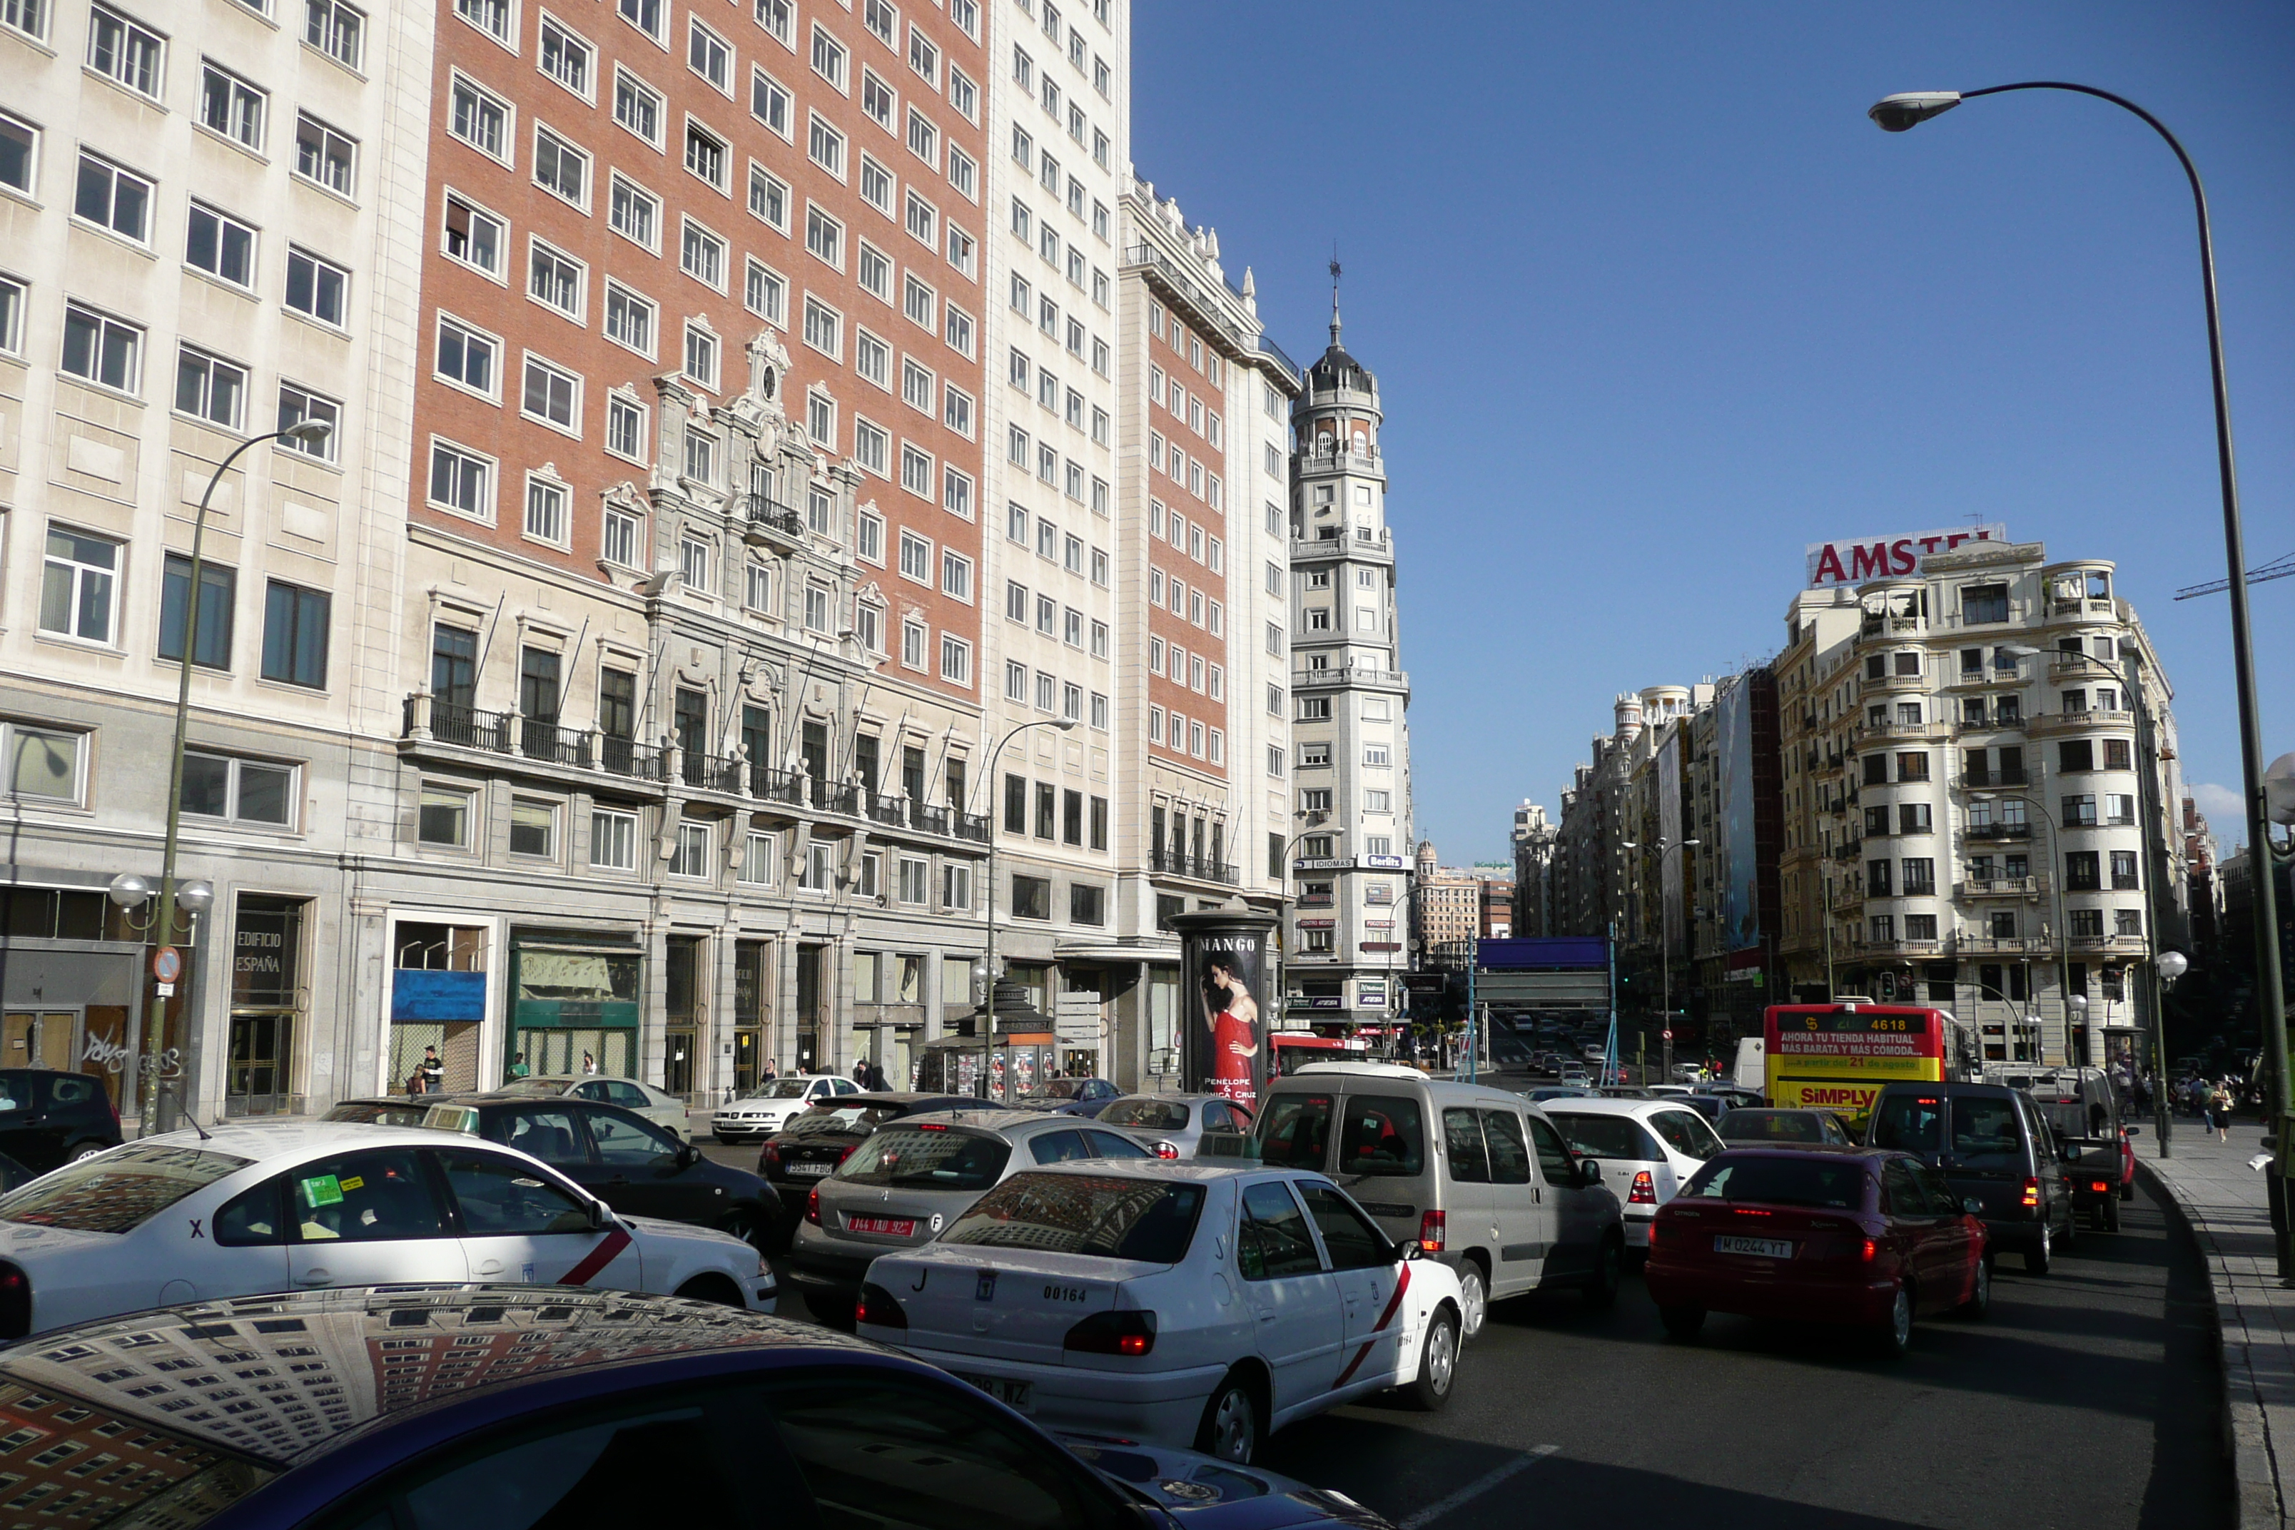
[[[1405,18],[1398,28],[1395,18]],[[1506,856],[1611,700],[1767,658],[1831,537],[2001,521],[2111,557],[2242,837],[2205,328],[2208,179],[2251,564],[2295,553],[2295,7],[1141,0],[1131,149],[1276,339],[1379,374],[1418,833]],[[2254,587],[2265,757],[2295,578]]]

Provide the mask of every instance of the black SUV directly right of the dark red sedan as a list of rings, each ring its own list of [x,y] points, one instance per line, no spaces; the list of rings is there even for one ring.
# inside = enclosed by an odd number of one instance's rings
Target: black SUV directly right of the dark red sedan
[[[1990,1248],[2045,1275],[2079,1227],[2056,1133],[2024,1090],[1999,1083],[1891,1083],[1873,1101],[1866,1147],[1916,1154],[1955,1197],[1976,1200]]]

